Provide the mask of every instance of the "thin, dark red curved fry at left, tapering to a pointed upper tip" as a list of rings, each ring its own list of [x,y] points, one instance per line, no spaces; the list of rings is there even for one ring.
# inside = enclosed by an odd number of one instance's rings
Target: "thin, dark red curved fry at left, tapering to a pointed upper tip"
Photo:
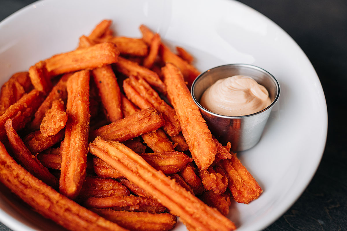
[[[20,165],[44,183],[53,188],[58,188],[58,179],[24,145],[22,139],[20,139],[17,132],[13,129],[11,119],[6,121],[5,129],[12,152]]]

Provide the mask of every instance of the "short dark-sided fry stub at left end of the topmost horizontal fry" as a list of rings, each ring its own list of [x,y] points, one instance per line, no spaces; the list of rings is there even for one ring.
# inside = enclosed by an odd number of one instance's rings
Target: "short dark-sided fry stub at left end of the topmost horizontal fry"
[[[52,90],[52,82],[47,75],[45,63],[40,61],[29,68],[29,77],[34,88],[47,95]]]

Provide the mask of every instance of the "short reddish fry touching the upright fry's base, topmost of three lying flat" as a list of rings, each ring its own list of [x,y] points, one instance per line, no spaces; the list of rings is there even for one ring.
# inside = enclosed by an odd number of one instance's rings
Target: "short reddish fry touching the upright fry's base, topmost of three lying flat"
[[[115,179],[86,177],[78,200],[83,201],[90,197],[129,196],[129,190]]]

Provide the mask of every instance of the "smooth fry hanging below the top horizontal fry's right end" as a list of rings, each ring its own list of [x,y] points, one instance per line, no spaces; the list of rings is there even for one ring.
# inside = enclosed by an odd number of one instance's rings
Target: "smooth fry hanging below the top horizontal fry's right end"
[[[94,82],[99,89],[99,96],[107,117],[111,122],[123,118],[121,110],[120,89],[117,78],[110,65],[92,71]]]

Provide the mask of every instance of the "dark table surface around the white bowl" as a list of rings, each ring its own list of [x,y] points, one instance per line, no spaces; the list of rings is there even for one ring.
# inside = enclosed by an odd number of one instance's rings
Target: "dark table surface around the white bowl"
[[[32,2],[0,0],[0,21]],[[328,139],[320,166],[298,201],[265,231],[347,230],[347,1],[240,2],[294,38],[312,62],[328,105]],[[0,223],[0,231],[9,230]]]

